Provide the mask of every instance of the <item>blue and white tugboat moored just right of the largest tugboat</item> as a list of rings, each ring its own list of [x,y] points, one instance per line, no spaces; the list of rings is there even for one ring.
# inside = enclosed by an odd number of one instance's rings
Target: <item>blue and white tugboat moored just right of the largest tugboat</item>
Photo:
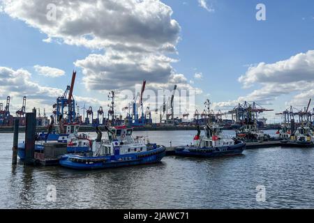
[[[246,148],[244,141],[225,136],[217,124],[205,126],[204,132],[204,136],[200,136],[200,128],[197,126],[194,145],[178,146],[175,148],[175,154],[186,157],[220,157],[239,155]]]

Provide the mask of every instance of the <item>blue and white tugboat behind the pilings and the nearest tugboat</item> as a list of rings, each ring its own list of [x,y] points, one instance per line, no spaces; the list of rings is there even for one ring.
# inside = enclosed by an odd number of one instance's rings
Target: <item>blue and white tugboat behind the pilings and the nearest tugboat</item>
[[[45,143],[67,143],[68,153],[87,153],[91,151],[92,141],[86,134],[78,134],[80,125],[77,123],[64,123],[59,120],[59,125],[56,126],[57,132],[52,131],[54,126],[52,116],[52,123],[47,132],[41,132],[36,136],[35,152],[43,153]],[[17,155],[20,160],[25,157],[25,143],[18,144]]]

